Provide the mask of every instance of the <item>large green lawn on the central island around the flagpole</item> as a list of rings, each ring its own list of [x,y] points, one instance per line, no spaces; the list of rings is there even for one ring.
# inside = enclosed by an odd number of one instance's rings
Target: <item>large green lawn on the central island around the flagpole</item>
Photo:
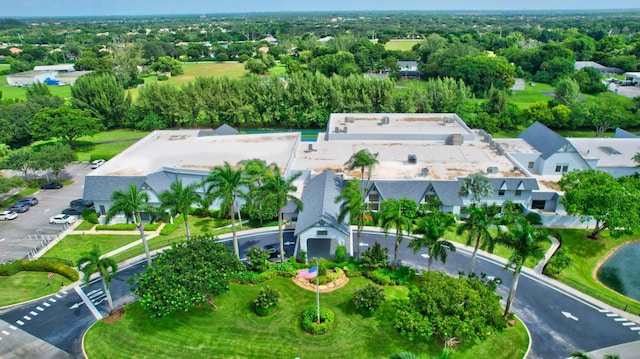
[[[288,278],[277,277],[259,285],[231,285],[229,292],[215,298],[215,310],[203,306],[151,319],[136,302],[126,307],[120,321],[96,323],[85,337],[85,349],[90,358],[388,358],[401,351],[440,351],[433,341],[411,342],[393,328],[392,299],[379,317],[357,314],[351,304],[353,290],[366,283],[365,278],[351,278],[344,288],[320,294],[320,305],[336,315],[333,331],[323,336],[308,335],[299,324],[303,310],[315,305],[315,293],[299,288]],[[259,318],[253,313],[253,300],[264,285],[278,289],[282,300],[274,315]],[[403,296],[394,288],[389,294],[392,298]],[[522,330],[517,331],[526,336]],[[522,342],[503,343],[499,352],[512,351],[513,355],[504,358],[519,358],[523,349],[514,347]],[[472,351],[456,358],[481,357]]]

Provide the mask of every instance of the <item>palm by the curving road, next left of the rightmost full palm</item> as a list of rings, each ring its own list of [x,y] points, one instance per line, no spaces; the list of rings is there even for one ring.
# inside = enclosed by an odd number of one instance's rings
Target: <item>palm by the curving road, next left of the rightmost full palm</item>
[[[495,225],[495,215],[498,213],[498,207],[495,205],[488,206],[486,203],[480,206],[472,206],[467,208],[469,213],[469,219],[458,227],[456,232],[458,235],[464,231],[469,232],[467,237],[467,245],[475,242],[473,246],[473,254],[471,255],[471,264],[469,265],[469,274],[473,273],[476,266],[476,256],[478,255],[478,249],[488,250],[493,252],[495,241],[489,228]]]

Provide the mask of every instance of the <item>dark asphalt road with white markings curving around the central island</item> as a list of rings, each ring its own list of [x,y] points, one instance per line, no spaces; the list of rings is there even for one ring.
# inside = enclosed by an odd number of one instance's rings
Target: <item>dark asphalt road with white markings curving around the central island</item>
[[[285,235],[285,241],[293,242],[292,232],[288,231]],[[252,246],[274,244],[278,239],[277,232],[270,232],[240,236],[239,241],[241,253],[244,254]],[[392,236],[385,238],[377,232],[363,233],[363,249],[375,241],[380,241],[389,248],[389,254],[393,256]],[[414,254],[406,247],[407,242],[408,240],[403,241],[398,253],[402,264],[420,270],[426,269],[426,259],[422,255],[424,253]],[[225,240],[225,243],[230,244],[230,240]],[[293,248],[293,244],[286,246],[287,256],[292,255]],[[459,249],[449,256],[446,266],[435,262],[434,269],[445,269],[448,273],[457,275],[459,271],[468,269],[470,257],[468,250]],[[144,261],[134,263],[121,268],[114,277],[111,291],[116,307],[136,300],[126,281],[134,273],[144,271],[144,266]],[[481,254],[478,256],[476,272],[502,278],[503,284],[498,288],[498,294],[506,297],[512,272],[503,270],[503,267],[503,260]],[[563,292],[552,281],[533,274],[521,275],[513,311],[531,333],[532,347],[528,356],[531,359],[566,358],[577,349],[592,351],[640,339],[640,325]],[[0,310],[0,357],[25,357],[17,355],[15,348],[3,347],[9,336],[20,332],[62,349],[55,355],[46,356],[48,358],[84,357],[82,334],[107,312],[107,303],[98,280],[88,286],[79,286],[57,295]],[[4,334],[5,332],[8,334]],[[38,344],[43,343],[35,340],[24,344],[21,353],[37,353]]]

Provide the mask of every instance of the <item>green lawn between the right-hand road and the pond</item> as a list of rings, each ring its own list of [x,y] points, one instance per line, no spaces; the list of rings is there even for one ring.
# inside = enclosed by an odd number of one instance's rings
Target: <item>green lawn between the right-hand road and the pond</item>
[[[599,283],[593,276],[593,270],[598,262],[604,259],[615,247],[635,239],[624,236],[611,238],[608,231],[600,232],[598,240],[589,239],[582,229],[554,229],[552,234],[559,233],[562,237],[562,247],[571,256],[571,266],[556,279],[568,284],[594,298],[600,299],[614,307],[633,314],[640,314],[640,302],[627,298]]]

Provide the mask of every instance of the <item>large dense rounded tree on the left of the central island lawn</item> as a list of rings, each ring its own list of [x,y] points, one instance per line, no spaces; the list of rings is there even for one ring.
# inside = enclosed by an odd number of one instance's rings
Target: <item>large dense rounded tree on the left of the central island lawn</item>
[[[158,254],[153,267],[131,278],[131,290],[152,317],[184,312],[229,290],[242,269],[230,248],[215,238],[194,237]]]

